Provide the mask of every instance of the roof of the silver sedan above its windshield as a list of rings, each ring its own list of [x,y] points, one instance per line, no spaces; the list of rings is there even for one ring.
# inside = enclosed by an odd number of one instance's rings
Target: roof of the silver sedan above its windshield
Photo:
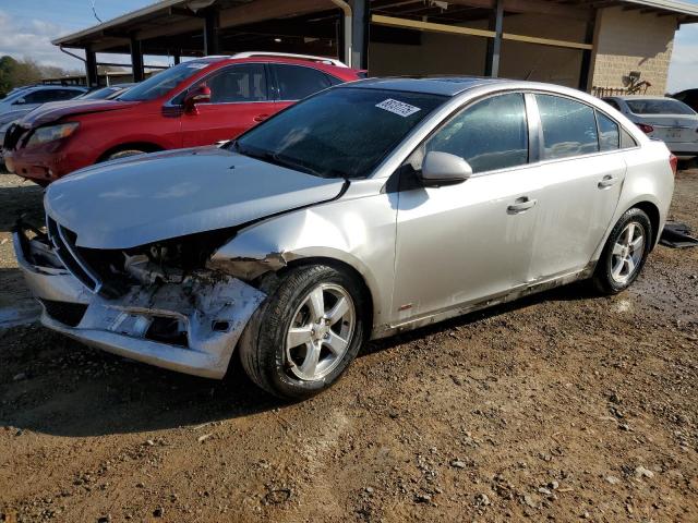
[[[482,85],[504,84],[512,82],[504,78],[484,76],[396,76],[387,78],[368,78],[344,84],[339,87],[359,87],[364,89],[405,90],[428,95],[456,96]]]

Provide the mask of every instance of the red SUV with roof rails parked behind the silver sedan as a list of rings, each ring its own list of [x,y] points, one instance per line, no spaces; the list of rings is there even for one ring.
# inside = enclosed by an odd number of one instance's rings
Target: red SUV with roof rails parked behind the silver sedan
[[[123,156],[231,139],[301,98],[363,76],[337,60],[238,53],[180,63],[116,100],[47,104],[5,134],[8,170],[40,185]]]

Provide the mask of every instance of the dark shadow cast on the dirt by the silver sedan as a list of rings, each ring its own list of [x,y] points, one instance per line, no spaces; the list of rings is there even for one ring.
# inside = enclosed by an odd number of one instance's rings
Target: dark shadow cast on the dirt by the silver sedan
[[[592,297],[573,284],[368,343],[360,357],[544,300]],[[246,417],[287,404],[257,389],[233,357],[222,381],[121,358],[38,325],[0,330],[0,426],[104,436]]]

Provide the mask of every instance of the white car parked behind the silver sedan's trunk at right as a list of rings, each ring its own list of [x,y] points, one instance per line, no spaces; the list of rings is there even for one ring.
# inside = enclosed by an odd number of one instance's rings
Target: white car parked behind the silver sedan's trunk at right
[[[683,101],[660,96],[603,98],[650,138],[661,139],[679,159],[698,156],[698,113]]]

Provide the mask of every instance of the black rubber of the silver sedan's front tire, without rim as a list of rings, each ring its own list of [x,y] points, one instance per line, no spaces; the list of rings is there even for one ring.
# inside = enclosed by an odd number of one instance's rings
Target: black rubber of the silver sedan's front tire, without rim
[[[339,285],[351,296],[354,306],[354,328],[346,353],[337,366],[322,379],[303,380],[289,368],[286,336],[293,315],[305,296],[318,284]],[[264,285],[263,285],[264,287]],[[364,300],[362,285],[346,271],[325,265],[311,265],[289,270],[253,314],[240,338],[240,361],[250,379],[267,392],[284,399],[313,397],[334,385],[354,360],[364,337]]]

